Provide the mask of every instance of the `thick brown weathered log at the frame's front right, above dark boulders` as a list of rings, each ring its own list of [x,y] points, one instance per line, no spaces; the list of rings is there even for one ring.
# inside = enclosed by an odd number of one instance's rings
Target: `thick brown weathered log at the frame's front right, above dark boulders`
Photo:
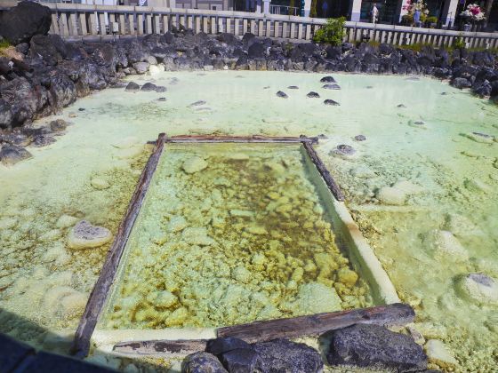
[[[415,313],[411,306],[395,303],[388,306],[358,308],[333,313],[317,313],[269,321],[255,321],[216,329],[218,337],[237,337],[247,342],[266,341],[275,338],[293,338],[325,333],[353,324],[382,326],[406,325],[413,322]]]

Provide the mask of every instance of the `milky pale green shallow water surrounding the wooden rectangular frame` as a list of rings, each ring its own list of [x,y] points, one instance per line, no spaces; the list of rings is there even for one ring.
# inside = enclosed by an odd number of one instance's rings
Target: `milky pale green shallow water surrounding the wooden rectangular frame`
[[[32,149],[33,159],[11,169],[0,166],[0,306],[9,311],[1,314],[1,329],[39,343],[43,330],[32,331],[31,322],[48,329],[76,327],[81,306],[64,313],[60,301],[64,291],[89,293],[107,247],[72,251],[65,247],[68,228],[56,222],[67,214],[115,232],[144,162],[142,144],[158,132],[324,134],[317,151],[400,298],[415,307],[417,327],[426,338],[445,341],[458,370],[493,371],[497,306],[463,297],[457,289],[471,272],[498,278],[498,143],[468,136],[498,136],[498,108],[430,79],[334,76],[341,91],[321,89],[321,75],[314,74],[172,72],[135,78],[156,80],[167,86],[165,93],[108,90],[65,109],[60,117],[74,125],[57,143]],[[288,90],[289,85],[300,89]],[[277,98],[279,90],[289,98]],[[322,98],[306,98],[309,91]],[[167,100],[157,101],[161,96]],[[323,99],[341,106],[325,106]],[[189,106],[197,100],[206,104]],[[69,118],[70,112],[77,116]],[[366,140],[353,140],[358,134]],[[334,155],[339,144],[354,147],[356,154]],[[93,188],[95,177],[107,179],[110,187]],[[396,205],[379,201],[378,189],[400,180],[411,183],[405,198]],[[54,230],[59,233],[47,234]],[[451,231],[465,252],[446,254],[434,230]],[[48,300],[55,303],[46,303],[48,291],[60,286],[73,290],[52,290]],[[59,311],[54,315],[52,309]]]

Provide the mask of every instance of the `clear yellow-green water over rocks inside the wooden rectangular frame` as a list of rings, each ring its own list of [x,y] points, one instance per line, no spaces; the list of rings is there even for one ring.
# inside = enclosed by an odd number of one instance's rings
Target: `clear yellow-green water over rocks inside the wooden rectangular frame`
[[[306,151],[166,144],[98,329],[220,327],[373,304]],[[330,201],[328,203],[330,205]]]

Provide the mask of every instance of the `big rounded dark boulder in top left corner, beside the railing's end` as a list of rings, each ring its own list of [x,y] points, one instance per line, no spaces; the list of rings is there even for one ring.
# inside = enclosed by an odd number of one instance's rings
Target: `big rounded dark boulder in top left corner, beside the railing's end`
[[[28,43],[32,36],[47,34],[51,24],[50,8],[23,1],[0,14],[0,36],[14,45]]]

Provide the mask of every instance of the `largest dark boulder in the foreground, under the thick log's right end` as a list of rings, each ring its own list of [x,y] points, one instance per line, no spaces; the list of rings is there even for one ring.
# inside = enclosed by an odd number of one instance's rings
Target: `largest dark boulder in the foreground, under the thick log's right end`
[[[356,324],[331,333],[326,354],[331,365],[353,365],[398,372],[427,369],[427,356],[411,337],[378,325]]]

